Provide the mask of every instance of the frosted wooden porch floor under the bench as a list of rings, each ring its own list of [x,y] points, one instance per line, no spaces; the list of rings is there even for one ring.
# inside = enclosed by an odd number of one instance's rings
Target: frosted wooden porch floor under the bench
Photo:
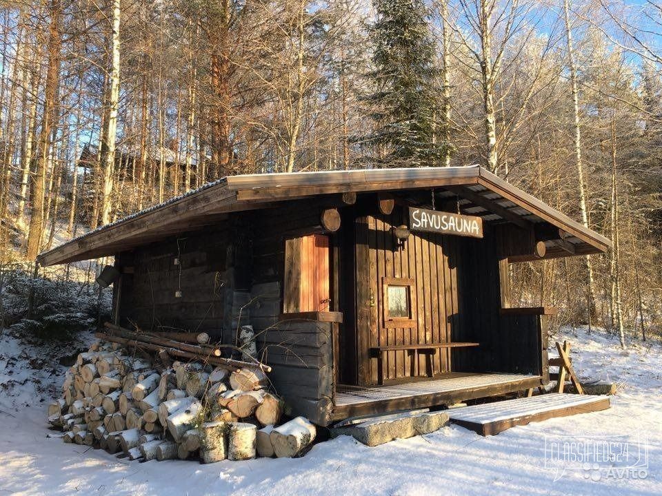
[[[539,386],[541,377],[512,373],[448,373],[431,380],[388,386],[337,387],[334,419],[453,404]]]

